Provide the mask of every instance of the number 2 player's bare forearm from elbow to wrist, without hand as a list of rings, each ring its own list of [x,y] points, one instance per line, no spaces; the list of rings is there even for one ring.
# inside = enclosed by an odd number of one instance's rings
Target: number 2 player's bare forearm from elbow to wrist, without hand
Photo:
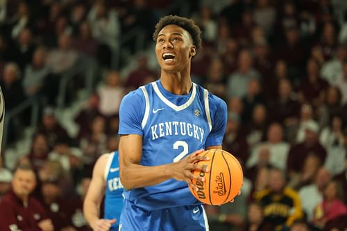
[[[142,166],[130,164],[120,172],[121,184],[126,190],[162,183],[172,178],[170,165]]]

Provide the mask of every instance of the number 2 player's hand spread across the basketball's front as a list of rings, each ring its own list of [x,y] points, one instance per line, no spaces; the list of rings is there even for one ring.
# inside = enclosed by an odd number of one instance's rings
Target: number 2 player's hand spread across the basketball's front
[[[206,167],[206,165],[198,164],[199,161],[208,161],[210,160],[207,156],[198,156],[204,150],[194,151],[192,154],[189,154],[182,160],[179,160],[175,163],[172,163],[169,171],[171,171],[172,178],[177,181],[185,181],[188,185],[190,185],[194,190],[198,191],[198,187],[196,187],[192,180],[196,179],[196,181],[204,182],[205,178],[201,176],[195,176],[192,174],[194,170],[200,170],[203,172],[208,172],[210,169]]]

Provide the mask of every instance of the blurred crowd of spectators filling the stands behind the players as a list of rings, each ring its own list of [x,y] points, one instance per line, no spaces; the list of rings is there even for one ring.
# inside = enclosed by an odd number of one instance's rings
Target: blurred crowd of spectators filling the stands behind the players
[[[155,23],[172,2],[0,1],[6,111],[25,98],[35,97],[42,105],[31,150],[17,165],[35,169],[34,194],[42,198],[56,230],[64,228],[61,219],[76,230],[87,229],[81,201],[96,158],[118,147],[121,98],[159,77],[159,68],[150,67],[143,53],[136,55],[131,40],[123,45],[132,50],[137,66],[127,76],[112,68],[121,35],[139,26],[146,43],[153,44]],[[189,15],[182,16],[192,17],[203,37],[192,78],[227,102],[223,149],[244,169],[235,202],[207,206],[210,229],[346,231],[347,2],[201,0],[185,5]],[[73,137],[55,114],[57,86],[66,73],[77,76],[68,100],[86,79],[95,86],[76,115],[79,130]],[[11,142],[20,137],[29,115],[28,109],[10,122]],[[12,169],[0,163],[2,195],[9,190]],[[75,198],[76,208],[66,206],[67,198]]]

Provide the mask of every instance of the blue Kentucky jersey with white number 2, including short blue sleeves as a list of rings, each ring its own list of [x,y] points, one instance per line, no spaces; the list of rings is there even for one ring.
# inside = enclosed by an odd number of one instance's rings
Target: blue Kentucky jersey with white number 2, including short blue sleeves
[[[221,145],[227,109],[223,100],[195,83],[189,94],[174,95],[158,80],[128,93],[121,102],[119,119],[120,135],[142,136],[140,165],[155,166],[176,162],[198,149]],[[174,179],[125,190],[124,196],[149,211],[201,203],[187,183]]]

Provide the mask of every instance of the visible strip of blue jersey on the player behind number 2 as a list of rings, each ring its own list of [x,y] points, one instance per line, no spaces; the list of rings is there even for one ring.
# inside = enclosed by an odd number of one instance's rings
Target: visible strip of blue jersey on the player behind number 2
[[[119,155],[118,151],[112,152],[108,156],[108,162],[105,167],[105,201],[104,218],[117,219],[112,224],[110,230],[118,230],[121,208],[123,206],[123,185],[119,180]]]

